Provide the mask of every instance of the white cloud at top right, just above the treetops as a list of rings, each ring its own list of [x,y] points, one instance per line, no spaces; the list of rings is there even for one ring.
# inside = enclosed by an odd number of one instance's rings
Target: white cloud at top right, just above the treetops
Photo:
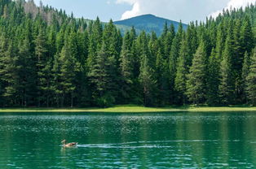
[[[227,2],[227,6],[225,7],[225,9],[245,7],[251,3],[254,4],[255,2],[256,0],[230,0],[229,2]],[[214,11],[210,15],[216,18],[222,12],[223,12],[222,10],[218,10],[218,11]]]

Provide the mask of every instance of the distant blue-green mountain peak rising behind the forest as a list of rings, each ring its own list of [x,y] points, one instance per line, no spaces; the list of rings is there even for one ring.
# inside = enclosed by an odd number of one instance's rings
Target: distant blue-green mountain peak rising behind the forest
[[[125,32],[127,28],[135,27],[137,32],[146,31],[146,32],[156,32],[157,36],[161,35],[163,31],[164,24],[174,24],[174,28],[177,30],[179,27],[179,22],[173,20],[167,20],[164,18],[157,17],[155,15],[139,15],[134,18],[127,20],[115,21],[114,24],[117,25],[117,28],[120,28],[122,32]],[[187,24],[183,24],[183,28],[186,29]]]

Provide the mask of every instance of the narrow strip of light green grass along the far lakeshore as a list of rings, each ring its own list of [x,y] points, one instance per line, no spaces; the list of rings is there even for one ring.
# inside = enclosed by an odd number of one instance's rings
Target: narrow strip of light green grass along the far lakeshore
[[[114,106],[110,108],[1,108],[0,113],[7,112],[102,112],[102,113],[151,113],[151,112],[232,112],[255,111],[256,107],[249,106],[179,106],[179,107],[143,107],[143,106]]]

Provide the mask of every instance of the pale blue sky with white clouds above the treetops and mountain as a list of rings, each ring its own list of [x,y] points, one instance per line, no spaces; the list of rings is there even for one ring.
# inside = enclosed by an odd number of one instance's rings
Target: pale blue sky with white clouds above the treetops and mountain
[[[40,0],[34,0],[39,4]],[[63,9],[68,14],[85,19],[125,20],[143,14],[157,15],[188,24],[193,20],[205,20],[217,16],[223,9],[245,7],[256,0],[42,0],[44,5]]]

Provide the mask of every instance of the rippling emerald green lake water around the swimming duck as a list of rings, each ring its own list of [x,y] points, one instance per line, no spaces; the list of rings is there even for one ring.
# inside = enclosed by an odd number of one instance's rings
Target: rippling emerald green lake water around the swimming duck
[[[256,112],[0,114],[0,168],[256,168]]]

